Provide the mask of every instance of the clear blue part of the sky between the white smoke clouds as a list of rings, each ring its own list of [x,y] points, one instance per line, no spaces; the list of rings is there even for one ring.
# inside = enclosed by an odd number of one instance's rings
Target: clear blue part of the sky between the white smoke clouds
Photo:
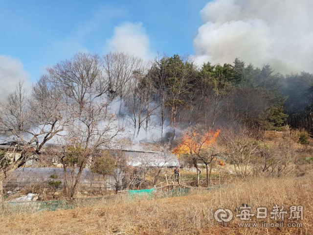
[[[149,50],[193,54],[208,0],[0,0],[0,55],[22,62],[31,81],[80,50],[103,54],[114,27],[142,23]]]

